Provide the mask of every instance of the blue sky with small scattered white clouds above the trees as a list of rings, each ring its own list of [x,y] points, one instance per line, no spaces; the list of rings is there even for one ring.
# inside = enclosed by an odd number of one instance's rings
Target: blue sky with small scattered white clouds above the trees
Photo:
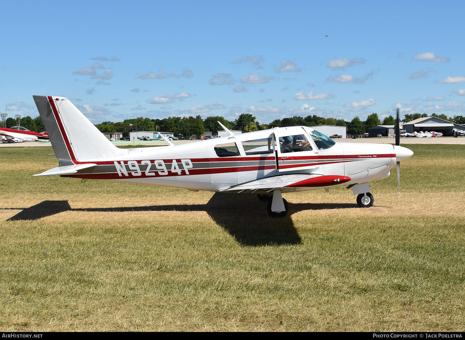
[[[460,1],[3,1],[0,109],[93,122],[465,115]],[[328,37],[325,37],[328,35]]]

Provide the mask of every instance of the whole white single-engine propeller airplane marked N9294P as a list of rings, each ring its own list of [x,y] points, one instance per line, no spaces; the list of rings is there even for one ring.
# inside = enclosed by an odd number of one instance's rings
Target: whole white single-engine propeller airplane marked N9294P
[[[173,186],[192,191],[255,193],[273,217],[288,204],[282,192],[348,186],[360,207],[373,205],[369,181],[389,176],[413,152],[390,144],[340,143],[294,126],[166,147],[115,147],[64,97],[33,96],[59,160],[34,176]],[[399,135],[399,132],[397,133]],[[398,166],[399,171],[399,166]]]

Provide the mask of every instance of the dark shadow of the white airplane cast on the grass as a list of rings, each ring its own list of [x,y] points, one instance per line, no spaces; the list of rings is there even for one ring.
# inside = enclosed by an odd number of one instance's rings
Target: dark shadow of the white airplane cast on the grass
[[[42,201],[7,221],[36,220],[60,212],[144,212],[144,211],[205,211],[215,223],[224,228],[242,245],[262,246],[300,244],[301,238],[291,219],[294,212],[302,210],[354,208],[356,204],[289,203],[285,218],[271,218],[266,212],[266,202],[255,195],[239,195],[216,192],[206,204],[194,205],[146,205],[114,208],[71,208],[68,201]],[[6,208],[20,209],[20,208]]]

